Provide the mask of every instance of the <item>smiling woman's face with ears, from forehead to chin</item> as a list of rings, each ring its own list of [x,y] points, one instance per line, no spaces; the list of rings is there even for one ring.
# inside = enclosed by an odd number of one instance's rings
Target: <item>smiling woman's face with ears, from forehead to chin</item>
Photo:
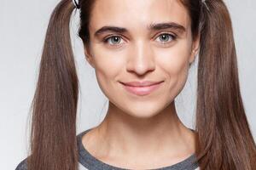
[[[115,109],[149,117],[182,91],[197,47],[189,15],[177,0],[96,0],[85,55]],[[153,91],[122,83],[144,81],[161,83]]]

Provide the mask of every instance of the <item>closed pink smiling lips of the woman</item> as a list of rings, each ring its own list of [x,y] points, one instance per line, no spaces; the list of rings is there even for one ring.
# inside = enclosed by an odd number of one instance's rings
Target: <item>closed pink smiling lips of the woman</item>
[[[155,89],[159,88],[161,82],[121,82],[121,84],[123,84],[124,88],[131,94],[143,96],[150,94]]]

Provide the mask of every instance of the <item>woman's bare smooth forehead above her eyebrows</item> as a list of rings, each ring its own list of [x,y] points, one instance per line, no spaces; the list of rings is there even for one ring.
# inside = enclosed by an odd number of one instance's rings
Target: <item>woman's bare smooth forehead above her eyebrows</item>
[[[134,29],[168,21],[189,26],[189,15],[179,0],[96,0],[90,27],[113,25]]]

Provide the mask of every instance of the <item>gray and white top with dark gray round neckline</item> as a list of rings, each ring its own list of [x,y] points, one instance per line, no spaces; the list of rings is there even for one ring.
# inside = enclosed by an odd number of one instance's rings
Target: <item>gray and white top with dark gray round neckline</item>
[[[91,128],[90,128],[91,129]],[[103,161],[98,160],[96,157],[90,155],[89,151],[84,148],[82,144],[82,137],[90,129],[85,130],[77,135],[78,148],[79,148],[79,170],[127,170],[121,167],[114,167]],[[26,159],[20,162],[15,170],[27,170]],[[195,154],[189,156],[183,161],[179,161],[168,167],[157,168],[156,170],[199,170]]]

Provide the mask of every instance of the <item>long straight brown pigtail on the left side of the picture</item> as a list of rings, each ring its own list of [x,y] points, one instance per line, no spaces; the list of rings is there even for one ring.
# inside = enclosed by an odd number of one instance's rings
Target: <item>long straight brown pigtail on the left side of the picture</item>
[[[49,20],[32,101],[29,170],[76,170],[78,77],[70,40],[73,2],[62,0]]]

